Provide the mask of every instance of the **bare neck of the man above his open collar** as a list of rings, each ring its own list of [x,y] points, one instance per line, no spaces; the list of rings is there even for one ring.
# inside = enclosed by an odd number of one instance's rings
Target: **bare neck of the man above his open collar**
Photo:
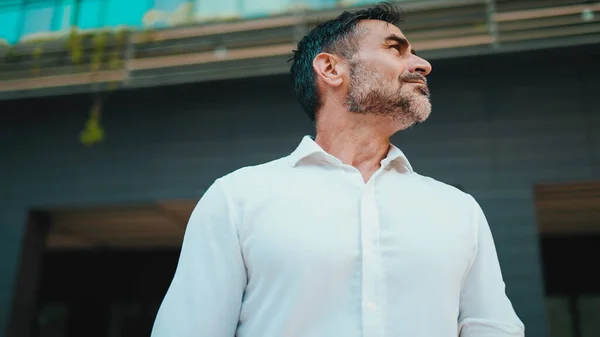
[[[376,171],[389,151],[389,120],[373,115],[327,111],[317,122],[315,142],[344,164],[356,167],[363,175]]]

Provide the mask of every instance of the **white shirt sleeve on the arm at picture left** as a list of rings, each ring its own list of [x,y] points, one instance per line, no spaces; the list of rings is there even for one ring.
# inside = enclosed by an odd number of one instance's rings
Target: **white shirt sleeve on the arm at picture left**
[[[152,337],[234,337],[246,268],[234,217],[217,180],[192,212]]]

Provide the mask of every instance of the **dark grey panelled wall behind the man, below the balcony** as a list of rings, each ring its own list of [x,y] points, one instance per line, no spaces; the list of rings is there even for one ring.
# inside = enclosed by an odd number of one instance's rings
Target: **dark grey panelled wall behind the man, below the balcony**
[[[416,171],[480,202],[530,337],[548,333],[534,185],[600,179],[598,50],[434,62],[430,120],[393,138]],[[216,178],[285,156],[313,132],[287,75],[115,92],[105,140],[86,147],[78,134],[92,99],[0,102],[0,331],[19,305],[32,210],[197,200]]]

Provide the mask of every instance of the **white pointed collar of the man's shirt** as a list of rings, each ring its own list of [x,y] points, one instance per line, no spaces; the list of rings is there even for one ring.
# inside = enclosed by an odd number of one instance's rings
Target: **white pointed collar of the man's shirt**
[[[290,165],[292,167],[296,167],[301,162],[305,162],[310,159],[313,159],[313,162],[317,163],[327,162],[337,165],[342,164],[339,159],[325,152],[325,150],[323,150],[311,136],[304,136],[296,150],[294,150],[294,152],[292,152],[289,156]],[[390,150],[388,151],[387,157],[381,161],[381,165],[383,167],[386,167],[390,164],[393,164],[396,168],[408,173],[413,172],[413,168],[404,153],[393,144],[390,144]]]

